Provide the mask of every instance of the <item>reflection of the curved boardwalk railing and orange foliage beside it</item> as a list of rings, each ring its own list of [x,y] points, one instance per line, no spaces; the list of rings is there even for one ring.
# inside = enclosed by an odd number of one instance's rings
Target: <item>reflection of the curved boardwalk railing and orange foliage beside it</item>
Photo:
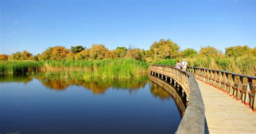
[[[174,87],[172,87],[171,84],[157,77],[150,75],[149,80],[153,82],[150,87],[151,93],[156,97],[160,97],[161,99],[166,99],[166,98],[169,99],[171,96],[174,102],[176,103],[176,106],[180,112],[180,116],[182,117],[186,110],[186,98],[180,97],[181,95],[178,94],[177,90]],[[169,96],[166,95],[165,93],[161,93],[160,90],[164,91]]]

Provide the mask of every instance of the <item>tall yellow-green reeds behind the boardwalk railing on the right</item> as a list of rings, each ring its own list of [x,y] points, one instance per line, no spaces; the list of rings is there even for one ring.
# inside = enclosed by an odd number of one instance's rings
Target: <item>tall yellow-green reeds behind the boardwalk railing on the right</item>
[[[182,59],[179,60],[182,61]],[[238,58],[186,58],[186,61],[192,67],[227,70],[228,72],[256,76],[256,57],[250,55]],[[175,65],[176,62],[177,60],[170,59],[154,62],[154,64]]]

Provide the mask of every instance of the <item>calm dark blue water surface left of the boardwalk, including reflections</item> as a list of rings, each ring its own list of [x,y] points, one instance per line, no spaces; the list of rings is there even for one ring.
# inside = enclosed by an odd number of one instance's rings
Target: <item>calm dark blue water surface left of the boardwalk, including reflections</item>
[[[181,119],[173,98],[148,76],[2,76],[0,88],[1,134],[174,133]]]

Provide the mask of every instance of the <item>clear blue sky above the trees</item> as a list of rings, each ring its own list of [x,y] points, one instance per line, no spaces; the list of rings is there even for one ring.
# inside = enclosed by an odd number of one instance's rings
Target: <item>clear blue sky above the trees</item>
[[[149,50],[162,38],[181,50],[255,47],[256,1],[1,0],[0,53],[92,44]]]

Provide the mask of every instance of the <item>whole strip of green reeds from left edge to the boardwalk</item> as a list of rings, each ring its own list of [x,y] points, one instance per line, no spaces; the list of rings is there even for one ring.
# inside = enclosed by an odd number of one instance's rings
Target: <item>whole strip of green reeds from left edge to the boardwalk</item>
[[[84,60],[84,61],[1,61],[1,74],[25,74],[40,69],[79,70],[84,78],[132,78],[147,72],[147,63],[133,59]],[[75,75],[76,73],[74,73]]]

